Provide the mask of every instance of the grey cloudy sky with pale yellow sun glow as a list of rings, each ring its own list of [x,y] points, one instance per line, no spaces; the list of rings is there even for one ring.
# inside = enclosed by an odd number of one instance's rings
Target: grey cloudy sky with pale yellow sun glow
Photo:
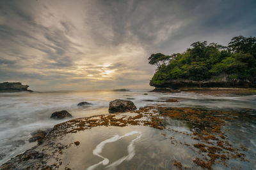
[[[0,82],[148,89],[152,53],[256,36],[255,0],[1,0]]]

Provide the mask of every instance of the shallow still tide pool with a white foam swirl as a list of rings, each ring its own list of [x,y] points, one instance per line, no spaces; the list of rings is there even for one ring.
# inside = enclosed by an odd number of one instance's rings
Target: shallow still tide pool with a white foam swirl
[[[170,136],[180,138],[179,134],[169,132],[168,136],[163,136],[163,133],[143,126],[95,127],[92,131],[72,135],[71,140],[66,136],[65,140],[80,141],[80,145],[66,150],[61,158],[65,162],[62,166],[88,170],[172,169],[173,159],[191,164],[195,157],[193,151],[179,143],[172,146],[170,142]],[[99,155],[94,154],[95,151],[100,151]]]

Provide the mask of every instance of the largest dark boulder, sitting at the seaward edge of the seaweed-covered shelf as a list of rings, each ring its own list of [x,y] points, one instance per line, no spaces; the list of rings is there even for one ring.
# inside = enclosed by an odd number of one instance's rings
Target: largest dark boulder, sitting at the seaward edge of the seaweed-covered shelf
[[[115,101],[111,101],[109,103],[109,113],[115,112],[126,112],[136,110],[136,106],[132,101],[125,101],[121,99],[115,99]]]

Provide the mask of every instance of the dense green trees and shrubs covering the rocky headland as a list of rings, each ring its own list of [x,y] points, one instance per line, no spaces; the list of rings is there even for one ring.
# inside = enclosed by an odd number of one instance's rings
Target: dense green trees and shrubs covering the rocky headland
[[[207,41],[191,44],[183,53],[164,55],[152,54],[149,64],[156,65],[152,84],[161,85],[170,80],[218,80],[223,77],[230,81],[256,81],[256,38],[237,36],[228,46]]]

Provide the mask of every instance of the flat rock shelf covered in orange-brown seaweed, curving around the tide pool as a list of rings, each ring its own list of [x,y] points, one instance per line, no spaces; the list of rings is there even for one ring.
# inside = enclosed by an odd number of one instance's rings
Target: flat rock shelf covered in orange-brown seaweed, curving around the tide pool
[[[252,110],[245,110],[252,111]],[[241,117],[243,116],[243,117]],[[158,129],[163,136],[168,136],[169,132],[176,132],[179,136],[187,136],[195,144],[184,143],[170,136],[170,145],[180,143],[188,150],[195,152],[197,157],[191,159],[191,166],[186,167],[178,160],[173,160],[173,166],[182,168],[195,168],[200,166],[204,169],[212,169],[216,164],[224,164],[227,161],[250,162],[246,159],[247,149],[244,146],[234,146],[227,138],[221,127],[226,121],[239,118],[255,119],[255,117],[244,117],[243,113],[205,110],[202,108],[167,108],[163,106],[145,106],[139,110],[123,113],[116,112],[93,117],[77,118],[57,124],[47,134],[38,141],[38,145],[26,152],[13,157],[0,166],[0,169],[70,169],[67,162],[63,162],[68,148],[80,147],[79,141],[69,142],[63,138],[72,139],[74,135],[84,132],[94,127],[127,127],[127,126],[148,126]],[[179,132],[170,128],[169,120],[180,120],[188,122],[191,132]],[[65,137],[66,136],[66,137]],[[76,140],[76,139],[74,139]],[[82,148],[81,148],[82,149]]]

